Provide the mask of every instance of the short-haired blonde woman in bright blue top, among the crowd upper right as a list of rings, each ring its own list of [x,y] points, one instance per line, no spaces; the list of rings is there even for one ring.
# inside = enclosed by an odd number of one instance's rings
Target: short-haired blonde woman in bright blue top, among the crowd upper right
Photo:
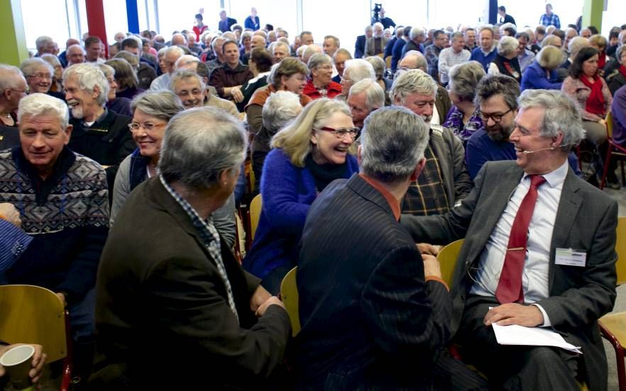
[[[561,89],[562,82],[556,75],[556,68],[563,63],[563,51],[556,46],[547,45],[522,75],[520,89]]]

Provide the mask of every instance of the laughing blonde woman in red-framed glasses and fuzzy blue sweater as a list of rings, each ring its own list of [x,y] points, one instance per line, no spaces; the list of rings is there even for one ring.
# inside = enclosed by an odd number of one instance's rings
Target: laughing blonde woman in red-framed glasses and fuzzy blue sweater
[[[284,61],[284,60],[283,60]],[[272,138],[261,175],[263,209],[243,268],[278,293],[297,263],[297,244],[309,206],[326,185],[358,172],[349,153],[358,129],[341,101],[317,99]]]

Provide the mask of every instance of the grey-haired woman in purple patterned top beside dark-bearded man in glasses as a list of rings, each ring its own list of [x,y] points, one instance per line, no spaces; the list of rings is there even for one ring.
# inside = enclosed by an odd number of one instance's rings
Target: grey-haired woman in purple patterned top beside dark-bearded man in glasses
[[[454,106],[448,112],[444,128],[460,138],[463,147],[473,133],[485,127],[474,104],[476,86],[484,76],[483,65],[477,61],[454,65],[448,72],[448,90]]]

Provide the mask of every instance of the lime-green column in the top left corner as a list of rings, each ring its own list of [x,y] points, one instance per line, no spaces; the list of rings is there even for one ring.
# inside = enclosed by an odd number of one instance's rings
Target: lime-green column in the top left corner
[[[2,37],[1,63],[18,67],[28,58],[20,0],[0,1],[0,37]]]

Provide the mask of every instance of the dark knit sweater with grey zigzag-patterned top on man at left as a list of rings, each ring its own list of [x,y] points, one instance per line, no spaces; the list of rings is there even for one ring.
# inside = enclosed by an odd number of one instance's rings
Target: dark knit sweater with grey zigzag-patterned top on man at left
[[[11,284],[67,292],[77,302],[95,285],[109,226],[102,167],[64,148],[53,175],[42,180],[21,147],[0,152],[0,202],[20,211],[31,246],[7,272]]]

